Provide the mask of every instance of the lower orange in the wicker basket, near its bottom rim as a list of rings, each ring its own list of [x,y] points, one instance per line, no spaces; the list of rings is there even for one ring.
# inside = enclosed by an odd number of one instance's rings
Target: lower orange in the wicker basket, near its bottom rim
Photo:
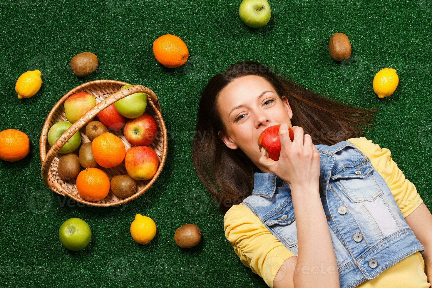
[[[87,201],[102,200],[109,192],[108,176],[98,168],[83,170],[76,177],[76,190]]]

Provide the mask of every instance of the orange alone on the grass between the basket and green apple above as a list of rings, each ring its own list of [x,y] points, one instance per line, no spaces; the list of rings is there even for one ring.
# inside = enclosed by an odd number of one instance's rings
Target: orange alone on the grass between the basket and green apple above
[[[153,42],[156,60],[168,68],[176,68],[186,63],[189,51],[183,40],[172,34],[162,35]]]

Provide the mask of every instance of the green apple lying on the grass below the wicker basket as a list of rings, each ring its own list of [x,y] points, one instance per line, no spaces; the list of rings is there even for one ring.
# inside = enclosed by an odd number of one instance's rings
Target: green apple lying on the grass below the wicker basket
[[[69,250],[79,251],[86,248],[92,239],[92,230],[82,219],[67,219],[58,229],[61,244]]]

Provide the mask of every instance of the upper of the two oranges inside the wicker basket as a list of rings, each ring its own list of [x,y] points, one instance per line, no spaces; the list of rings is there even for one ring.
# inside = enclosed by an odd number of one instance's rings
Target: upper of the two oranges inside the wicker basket
[[[120,138],[106,132],[93,139],[92,154],[99,165],[111,168],[123,161],[126,148]]]

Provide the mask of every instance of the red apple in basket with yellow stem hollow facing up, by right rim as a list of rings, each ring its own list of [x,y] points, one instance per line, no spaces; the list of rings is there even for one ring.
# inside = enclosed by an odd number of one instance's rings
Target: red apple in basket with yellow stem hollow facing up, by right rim
[[[149,146],[155,139],[157,131],[155,119],[144,113],[138,118],[127,121],[124,126],[124,137],[132,146]]]

